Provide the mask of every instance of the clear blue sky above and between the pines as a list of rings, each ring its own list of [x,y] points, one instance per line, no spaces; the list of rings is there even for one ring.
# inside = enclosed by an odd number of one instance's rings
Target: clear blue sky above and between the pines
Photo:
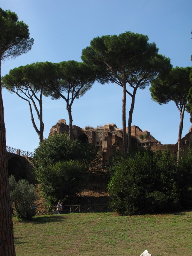
[[[159,53],[169,57],[173,67],[192,66],[191,0],[0,0],[3,10],[16,12],[34,38],[32,49],[1,65],[1,75],[10,69],[37,61],[81,61],[82,49],[97,36],[131,31],[146,34],[155,42]],[[34,151],[39,139],[30,120],[28,104],[3,89],[7,145]],[[127,95],[127,122],[131,99]],[[95,83],[91,90],[72,105],[73,124],[84,128],[115,123],[122,128],[122,88],[116,84]],[[43,99],[44,137],[59,119],[68,113],[63,99]],[[179,112],[173,102],[158,105],[151,100],[149,88],[138,90],[132,125],[149,131],[163,144],[174,144],[178,138]],[[184,117],[182,136],[191,126],[189,114]]]

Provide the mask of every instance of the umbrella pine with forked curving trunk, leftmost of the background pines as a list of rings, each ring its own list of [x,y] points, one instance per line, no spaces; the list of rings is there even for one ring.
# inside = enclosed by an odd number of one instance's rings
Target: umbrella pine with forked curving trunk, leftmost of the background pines
[[[1,79],[3,87],[29,103],[31,121],[39,141],[44,138],[42,95],[46,90],[45,80],[48,76],[50,73],[45,64],[37,62],[14,68]],[[35,122],[34,112],[39,120],[39,128]]]

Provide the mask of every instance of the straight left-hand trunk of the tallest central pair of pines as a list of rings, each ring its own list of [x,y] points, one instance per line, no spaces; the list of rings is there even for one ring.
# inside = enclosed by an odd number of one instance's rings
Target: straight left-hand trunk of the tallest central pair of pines
[[[123,83],[122,99],[122,125],[123,125],[123,152],[127,152],[127,131],[126,131],[126,82]]]

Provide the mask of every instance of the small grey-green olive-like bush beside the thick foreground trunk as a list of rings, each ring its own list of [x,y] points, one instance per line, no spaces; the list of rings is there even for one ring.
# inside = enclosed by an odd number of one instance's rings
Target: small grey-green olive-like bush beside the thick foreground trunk
[[[37,199],[35,186],[26,180],[16,182],[14,176],[10,176],[9,184],[11,202],[14,203],[18,219],[30,220],[35,215],[35,210],[31,207]]]

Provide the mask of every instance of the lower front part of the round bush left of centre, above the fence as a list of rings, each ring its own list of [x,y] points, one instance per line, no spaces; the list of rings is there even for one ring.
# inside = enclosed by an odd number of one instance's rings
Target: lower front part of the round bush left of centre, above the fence
[[[82,188],[86,179],[87,167],[78,160],[57,162],[46,168],[36,169],[41,190],[49,204],[64,200],[66,196],[73,196]]]

